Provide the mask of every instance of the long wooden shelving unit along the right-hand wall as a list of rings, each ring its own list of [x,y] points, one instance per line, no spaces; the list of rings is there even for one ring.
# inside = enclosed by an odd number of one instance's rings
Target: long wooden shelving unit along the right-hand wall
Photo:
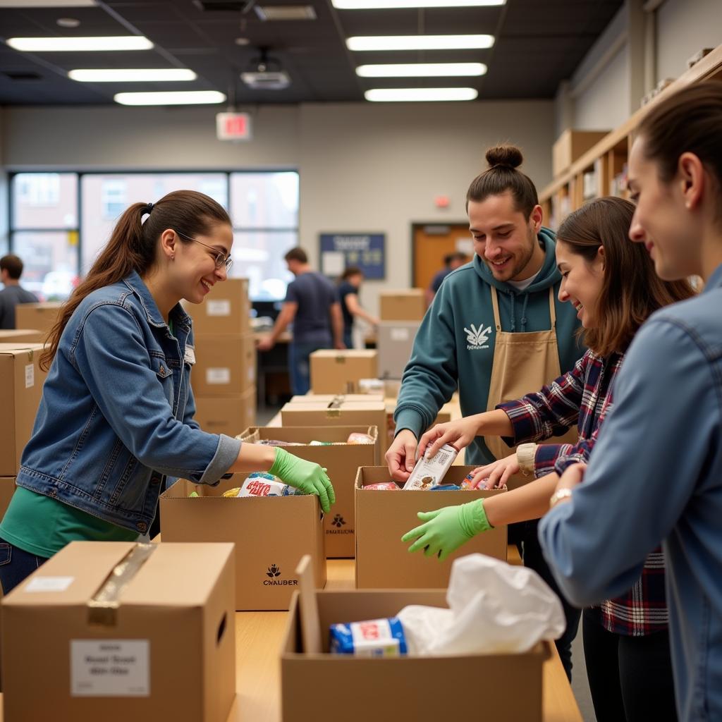
[[[569,170],[541,191],[539,204],[544,211],[544,225],[557,228],[567,214],[591,198],[626,198],[627,158],[642,118],[671,93],[692,83],[709,79],[722,80],[722,45],[718,45],[708,56],[685,71],[647,105],[633,113],[619,128],[604,136],[576,160]]]

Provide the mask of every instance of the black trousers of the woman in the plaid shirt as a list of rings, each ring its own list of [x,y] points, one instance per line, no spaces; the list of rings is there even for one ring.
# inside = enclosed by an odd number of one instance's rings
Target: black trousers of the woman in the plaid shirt
[[[597,722],[675,722],[669,632],[614,634],[585,611],[584,658]]]

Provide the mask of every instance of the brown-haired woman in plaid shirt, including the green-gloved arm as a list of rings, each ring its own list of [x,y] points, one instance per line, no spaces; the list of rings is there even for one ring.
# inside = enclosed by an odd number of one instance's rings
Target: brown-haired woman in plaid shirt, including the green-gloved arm
[[[433,456],[443,443],[464,448],[476,435],[500,435],[515,454],[474,471],[474,484],[504,486],[519,471],[530,482],[507,494],[475,500],[438,512],[419,513],[425,521],[409,531],[409,551],[448,554],[499,524],[539,518],[549,508],[559,475],[588,459],[604,415],[612,408],[612,380],[642,323],[655,310],[684,300],[687,282],[658,279],[648,253],[630,243],[634,206],[602,198],[570,214],[557,232],[560,300],[572,303],[583,326],[586,354],[574,369],[518,401],[493,412],[435,426],[419,441],[419,455]],[[538,444],[577,425],[571,444]],[[583,614],[584,652],[598,722],[676,719],[664,595],[664,557],[649,554],[643,573],[624,596]]]

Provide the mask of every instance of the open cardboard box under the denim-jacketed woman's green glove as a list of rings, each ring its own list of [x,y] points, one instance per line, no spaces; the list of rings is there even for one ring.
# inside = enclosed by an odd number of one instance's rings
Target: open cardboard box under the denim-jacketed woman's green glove
[[[175,482],[160,495],[162,544],[235,542],[235,609],[288,609],[303,554],[313,558],[316,586],[326,584],[323,513],[313,495],[222,498],[247,476],[234,474],[217,487]],[[193,491],[200,498],[188,497]]]

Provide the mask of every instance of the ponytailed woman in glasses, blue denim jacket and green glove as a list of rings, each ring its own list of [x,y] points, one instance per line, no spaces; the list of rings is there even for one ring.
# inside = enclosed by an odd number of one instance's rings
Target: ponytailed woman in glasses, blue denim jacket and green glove
[[[69,541],[126,541],[155,518],[165,475],[217,484],[269,470],[335,501],[326,470],[193,421],[191,318],[232,261],[230,218],[195,191],[136,203],[61,310],[35,426],[0,523],[5,593]]]

